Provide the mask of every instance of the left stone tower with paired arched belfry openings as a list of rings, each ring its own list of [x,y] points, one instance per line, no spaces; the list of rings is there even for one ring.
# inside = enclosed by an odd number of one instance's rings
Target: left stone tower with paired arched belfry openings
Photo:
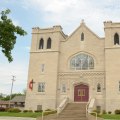
[[[26,109],[56,109],[60,41],[64,37],[61,26],[33,28]],[[34,84],[29,89],[31,80]]]

